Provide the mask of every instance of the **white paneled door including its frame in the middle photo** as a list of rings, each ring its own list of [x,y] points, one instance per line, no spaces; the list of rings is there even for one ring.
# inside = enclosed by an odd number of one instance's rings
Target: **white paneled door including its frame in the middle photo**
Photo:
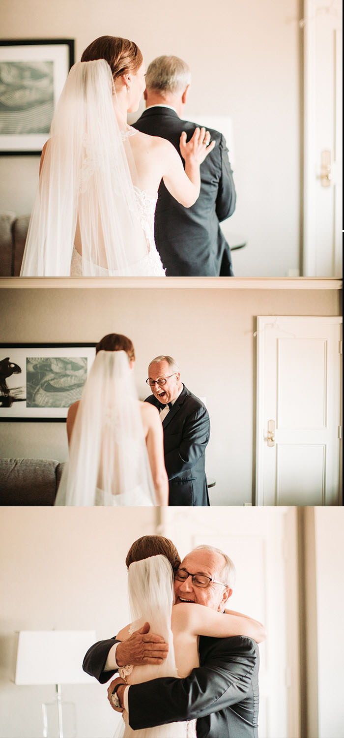
[[[340,504],[339,317],[258,317],[256,504]]]

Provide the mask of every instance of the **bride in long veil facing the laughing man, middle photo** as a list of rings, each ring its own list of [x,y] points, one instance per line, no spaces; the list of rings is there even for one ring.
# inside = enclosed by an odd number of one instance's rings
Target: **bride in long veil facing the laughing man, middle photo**
[[[67,416],[69,462],[57,506],[167,505],[163,430],[158,410],[138,401],[135,353],[126,336],[108,334]]]

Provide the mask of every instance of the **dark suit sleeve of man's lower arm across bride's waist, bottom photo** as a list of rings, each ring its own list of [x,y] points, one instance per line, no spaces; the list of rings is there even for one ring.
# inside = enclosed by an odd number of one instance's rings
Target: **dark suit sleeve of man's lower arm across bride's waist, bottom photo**
[[[193,669],[189,677],[163,677],[130,686],[129,723],[133,730],[205,717],[245,699],[256,665],[256,644],[242,636],[217,641],[211,658]]]

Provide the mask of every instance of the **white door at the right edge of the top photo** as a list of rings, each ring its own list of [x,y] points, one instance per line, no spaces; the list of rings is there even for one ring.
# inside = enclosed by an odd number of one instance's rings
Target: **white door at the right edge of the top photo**
[[[305,0],[303,276],[342,273],[343,29],[340,0]]]

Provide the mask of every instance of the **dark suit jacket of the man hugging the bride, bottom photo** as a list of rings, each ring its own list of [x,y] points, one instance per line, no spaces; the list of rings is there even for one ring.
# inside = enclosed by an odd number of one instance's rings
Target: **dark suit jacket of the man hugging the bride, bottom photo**
[[[83,669],[101,684],[116,638],[98,641],[85,655]],[[255,641],[200,636],[200,666],[189,677],[162,677],[132,684],[129,721],[133,730],[197,719],[197,738],[258,738],[259,650]]]

